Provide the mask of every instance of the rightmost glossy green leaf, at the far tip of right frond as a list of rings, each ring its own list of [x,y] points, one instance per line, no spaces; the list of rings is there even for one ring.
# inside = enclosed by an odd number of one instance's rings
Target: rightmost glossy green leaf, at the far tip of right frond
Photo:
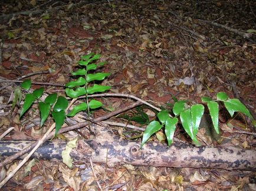
[[[227,108],[231,117],[234,115],[234,112],[241,112],[247,115],[251,120],[254,119],[249,110],[245,107],[244,104],[240,102],[239,99],[228,99],[224,102],[224,105]]]

